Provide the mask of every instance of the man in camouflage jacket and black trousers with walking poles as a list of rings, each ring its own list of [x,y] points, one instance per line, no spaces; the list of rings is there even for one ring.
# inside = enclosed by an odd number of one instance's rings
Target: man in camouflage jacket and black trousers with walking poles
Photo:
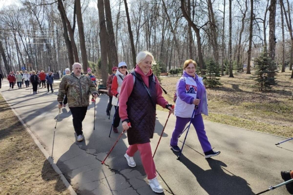
[[[89,95],[91,93],[96,99],[98,92],[91,78],[82,74],[80,63],[74,63],[72,69],[73,73],[65,75],[59,84],[57,101],[59,102],[59,108],[62,108],[63,98],[67,93],[68,107],[73,117],[73,127],[76,132],[77,141],[82,141],[82,121],[86,116],[89,106]]]

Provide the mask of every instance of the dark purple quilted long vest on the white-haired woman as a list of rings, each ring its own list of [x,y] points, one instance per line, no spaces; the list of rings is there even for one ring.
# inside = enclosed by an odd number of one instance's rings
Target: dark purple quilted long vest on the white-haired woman
[[[131,128],[127,130],[128,144],[144,144],[153,138],[156,122],[156,83],[149,76],[151,98],[143,85],[142,77],[136,73],[132,92],[127,101],[127,114]],[[152,100],[151,100],[152,99]]]

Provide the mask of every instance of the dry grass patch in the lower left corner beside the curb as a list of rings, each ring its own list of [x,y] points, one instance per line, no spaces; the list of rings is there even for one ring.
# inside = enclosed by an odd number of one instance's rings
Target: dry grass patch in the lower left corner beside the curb
[[[1,195],[70,194],[1,95],[0,146]]]

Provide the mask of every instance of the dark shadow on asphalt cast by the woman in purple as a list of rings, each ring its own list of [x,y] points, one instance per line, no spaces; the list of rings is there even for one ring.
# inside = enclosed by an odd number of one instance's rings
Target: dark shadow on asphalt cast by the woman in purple
[[[183,153],[180,156],[180,161],[193,173],[197,182],[209,195],[254,194],[246,180],[231,172],[231,175],[224,172],[222,167],[227,167],[227,165],[222,161],[207,159],[211,168],[209,170],[203,170],[186,158]]]

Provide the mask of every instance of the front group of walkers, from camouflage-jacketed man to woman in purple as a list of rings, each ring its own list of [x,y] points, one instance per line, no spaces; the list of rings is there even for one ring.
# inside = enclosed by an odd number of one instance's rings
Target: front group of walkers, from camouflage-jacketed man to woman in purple
[[[183,132],[185,125],[191,121],[197,132],[205,158],[217,156],[220,151],[214,151],[208,141],[202,113],[208,113],[207,95],[202,78],[197,76],[196,63],[187,60],[184,63],[184,72],[176,86],[175,111],[172,105],[162,96],[162,89],[157,77],[153,74],[151,66],[156,64],[154,56],[148,51],[139,52],[136,57],[134,70],[127,71],[127,64],[120,62],[118,67],[113,67],[113,74],[108,77],[109,102],[106,114],[110,115],[112,105],[115,106],[113,131],[118,132],[120,120],[123,130],[127,130],[129,147],[124,154],[127,164],[135,167],[134,154],[139,151],[142,165],[147,174],[149,185],[154,192],[162,193],[164,190],[157,179],[156,167],[152,157],[150,139],[153,138],[156,122],[156,104],[175,113],[176,126],[170,140],[173,151],[180,151],[178,137]],[[74,63],[73,72],[65,75],[59,85],[57,101],[59,109],[64,106],[64,96],[67,95],[68,106],[73,117],[73,126],[77,141],[82,141],[82,121],[89,106],[89,95],[94,102],[97,97],[96,79],[91,75],[91,70],[84,75],[82,66]],[[94,78],[94,79],[93,79]]]

